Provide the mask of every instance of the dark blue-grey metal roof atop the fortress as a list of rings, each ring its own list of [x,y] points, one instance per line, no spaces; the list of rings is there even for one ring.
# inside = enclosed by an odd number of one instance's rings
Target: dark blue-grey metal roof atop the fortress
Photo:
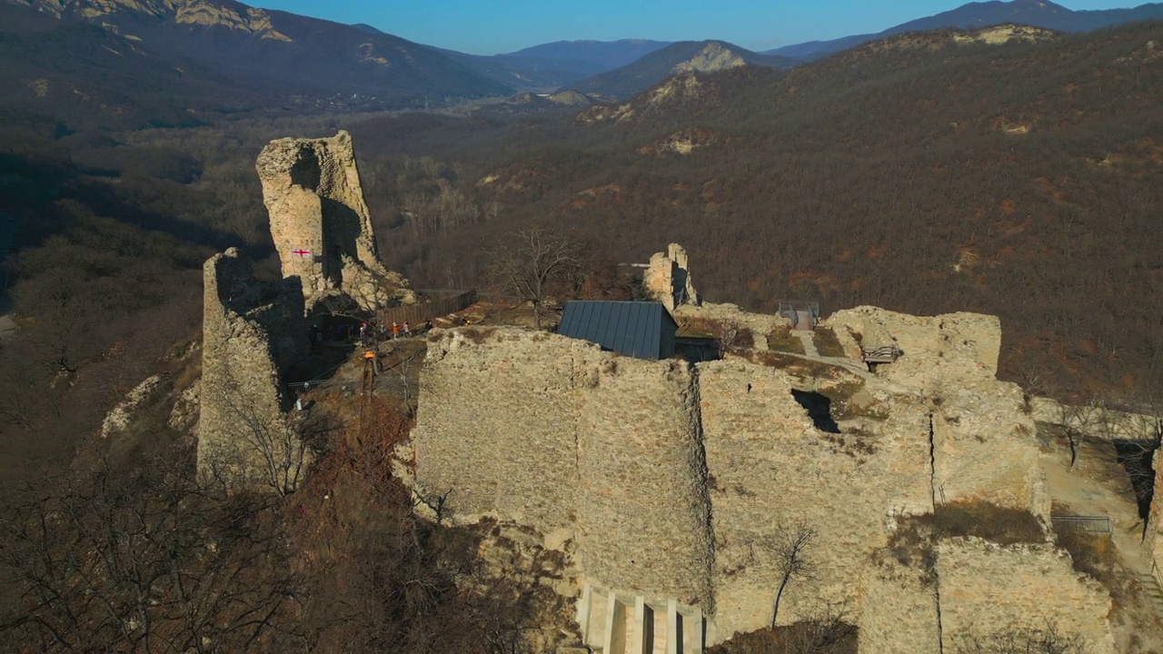
[[[678,325],[661,303],[571,301],[557,333],[637,358],[675,354]]]

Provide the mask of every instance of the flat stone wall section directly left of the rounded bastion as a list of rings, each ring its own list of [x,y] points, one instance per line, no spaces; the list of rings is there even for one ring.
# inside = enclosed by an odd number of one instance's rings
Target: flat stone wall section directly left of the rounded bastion
[[[412,433],[416,482],[429,495],[451,490],[448,504],[465,518],[572,528],[578,384],[601,353],[544,333],[484,334],[440,332],[428,344]]]

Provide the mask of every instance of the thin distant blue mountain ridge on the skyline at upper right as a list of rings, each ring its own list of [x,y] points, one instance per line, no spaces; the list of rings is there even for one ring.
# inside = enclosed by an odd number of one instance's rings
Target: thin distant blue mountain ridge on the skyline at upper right
[[[1075,12],[1046,0],[1013,0],[1012,2],[970,2],[956,9],[934,16],[908,21],[876,34],[859,34],[832,41],[809,41],[765,50],[764,55],[778,55],[800,61],[815,59],[833,52],[855,48],[869,41],[906,31],[929,29],[977,29],[1001,23],[1028,24],[1058,31],[1091,31],[1121,23],[1163,19],[1163,3],[1141,5],[1133,9],[1103,9]]]

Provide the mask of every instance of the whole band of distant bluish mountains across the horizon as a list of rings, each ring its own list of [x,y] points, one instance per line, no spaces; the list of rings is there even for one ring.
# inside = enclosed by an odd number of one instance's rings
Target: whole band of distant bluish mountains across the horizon
[[[269,12],[234,0],[0,0],[0,8],[5,23],[0,31],[7,35],[0,43],[0,71],[8,72],[0,88],[6,94],[24,101],[30,85],[40,90],[48,81],[51,88],[72,94],[66,100],[62,92],[60,102],[104,98],[109,107],[106,113],[122,116],[145,116],[148,102],[136,99],[135,92],[162,87],[188,97],[187,108],[216,106],[219,111],[240,104],[270,105],[272,94],[284,99],[342,97],[345,100],[334,101],[373,102],[365,105],[370,107],[438,106],[557,90],[621,99],[684,71],[786,67],[905,31],[1005,22],[1083,31],[1163,17],[1163,3],[1072,12],[1048,1],[992,1],[972,2],[878,34],[766,52],[722,41],[623,40],[559,41],[485,57],[413,43],[368,24]],[[66,27],[77,24],[91,26],[91,30]],[[34,36],[36,30],[53,36]],[[173,71],[181,72],[180,79],[173,78]]]

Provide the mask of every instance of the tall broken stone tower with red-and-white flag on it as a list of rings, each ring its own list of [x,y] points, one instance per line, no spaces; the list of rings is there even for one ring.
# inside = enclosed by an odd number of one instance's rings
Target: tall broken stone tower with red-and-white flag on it
[[[297,277],[311,308],[345,293],[366,311],[411,303],[407,280],[379,263],[351,136],[279,138],[256,165],[284,277]]]

